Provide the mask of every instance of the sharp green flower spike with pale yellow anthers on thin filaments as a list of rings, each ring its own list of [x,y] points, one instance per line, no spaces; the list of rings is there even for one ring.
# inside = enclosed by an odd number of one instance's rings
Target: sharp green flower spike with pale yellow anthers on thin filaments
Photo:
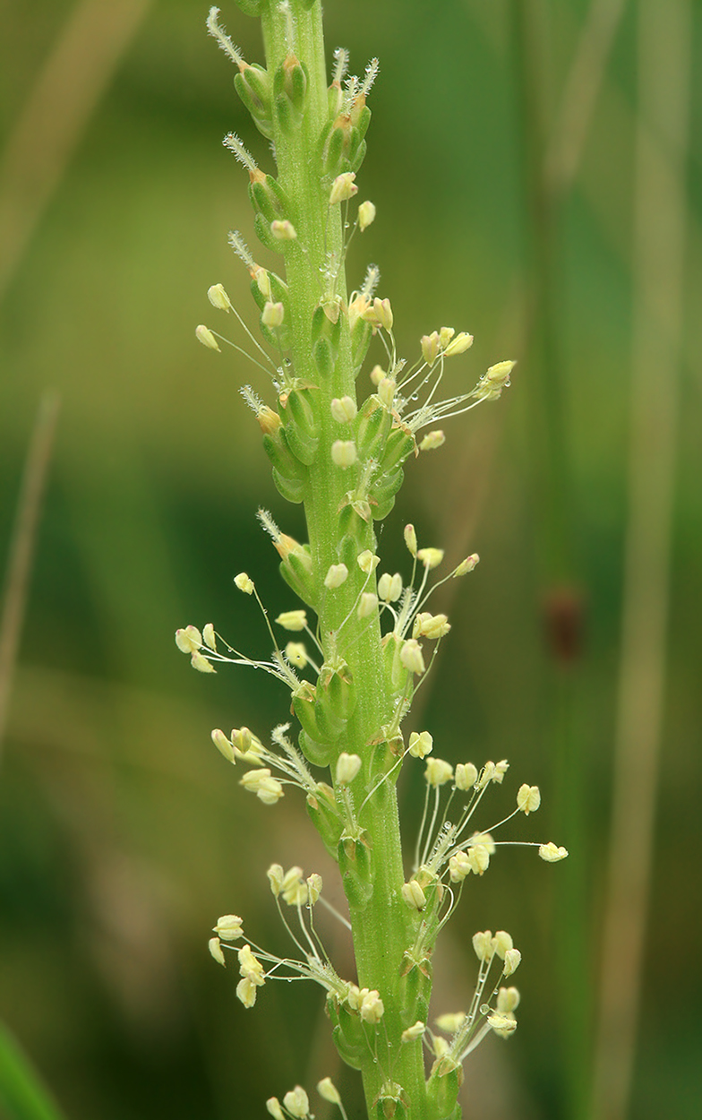
[[[286,871],[273,865],[268,872],[294,944],[293,956],[277,956],[245,937],[235,914],[218,920],[210,951],[224,964],[224,950],[242,942],[236,950],[237,996],[245,1007],[254,1005],[269,979],[310,979],[325,989],[339,1053],[363,1075],[368,1116],[443,1120],[460,1114],[457,1095],[467,1055],[487,1033],[507,1036],[516,1026],[518,993],[500,987],[500,980],[515,971],[520,953],[507,933],[493,936],[490,931],[474,939],[479,968],[471,1006],[449,1016],[450,1023],[446,1017],[438,1020],[450,1039],[428,1026],[439,932],[466,878],[487,869],[496,850],[492,831],[504,823],[476,831],[474,814],[483,809],[488,787],[503,783],[507,763],[487,763],[480,771],[462,763],[453,769],[428,757],[433,747],[428,731],[413,732],[405,746],[403,720],[450,629],[446,615],[425,609],[443,553],[420,548],[408,525],[410,580],[405,585],[397,572],[378,578],[375,522],[392,510],[404,461],[444,441],[440,429],[423,437],[420,432],[438,419],[497,399],[509,384],[514,363],[492,366],[474,390],[442,400],[444,362],[466,352],[471,335],[448,327],[434,330],[421,339],[416,360],[408,363],[397,355],[390,301],[376,296],[377,269],[371,267],[362,287],[349,295],[348,242],[375,217],[374,205],[364,200],[356,207],[354,196],[377,63],[368,65],[363,78],[348,77],[346,52],[337,50],[329,83],[318,0],[237,2],[261,19],[265,68],[242,57],[219,25],[216,8],[207,22],[237,67],[236,88],[275,153],[273,176],[259,168],[235,136],[225,138],[249,172],[256,234],[282,259],[284,277],[259,265],[238,233],[230,235],[251,274],[264,345],[222,284],[214,284],[208,297],[218,310],[234,312],[254,348],[249,356],[271,374],[274,407],[250,386],[242,392],[261,426],[275,485],[284,498],[303,504],[309,534],[301,544],[260,511],[280,556],[281,573],[305,605],[284,612],[275,624],[306,634],[313,650],[293,640],[281,648],[260,600],[274,646],[266,662],[235,650],[210,624],[202,633],[194,626],[178,631],[176,641],[202,672],[215,672],[215,665],[227,662],[254,665],[290,691],[299,726],[274,728],[271,747],[247,728],[231,736],[215,729],[213,740],[231,764],[250,767],[241,784],[264,804],[275,804],[290,786],[302,791],[308,813],[339,866],[357,983],[334,969],[313,921],[321,879],[306,878],[299,867]],[[196,334],[215,351],[227,343],[204,325]],[[371,371],[367,392],[358,392],[372,343],[381,362]],[[238,343],[231,345],[247,353]],[[477,561],[477,556],[468,557],[444,578],[467,575]],[[236,585],[259,598],[246,572],[236,577]],[[308,619],[308,612],[316,622]],[[408,755],[427,758],[427,801],[409,875],[395,791]],[[523,785],[509,816],[528,814],[539,802],[536,786]],[[448,823],[449,806],[457,823]],[[540,846],[540,853],[549,861],[567,855],[555,844]],[[424,1049],[432,1058],[429,1076]],[[344,1114],[328,1079],[319,1091]],[[286,1094],[282,1105],[271,1098],[266,1107],[274,1117],[309,1114],[300,1086]]]

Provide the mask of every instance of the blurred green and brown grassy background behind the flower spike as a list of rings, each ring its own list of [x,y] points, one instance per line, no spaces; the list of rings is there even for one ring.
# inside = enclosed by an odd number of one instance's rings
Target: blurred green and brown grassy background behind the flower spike
[[[475,334],[456,391],[520,360],[498,404],[449,421],[447,446],[409,467],[381,536],[390,571],[406,568],[408,520],[449,562],[479,551],[437,601],[453,629],[412,726],[452,762],[508,757],[497,814],[537,783],[543,808],[520,836],[571,849],[553,868],[506,850],[447,931],[436,1014],[469,992],[475,930],[509,930],[524,956],[520,1030],[469,1060],[467,1120],[590,1114],[612,804],[625,849],[643,822],[630,875],[648,925],[630,1104],[592,1114],[692,1120],[702,1102],[702,19],[658,0],[664,34],[646,38],[655,7],[326,4],[329,55],[347,46],[354,72],[381,60],[359,175],[378,216],[355,241],[352,286],[380,265],[406,355],[443,324]],[[0,1016],[69,1120],[262,1116],[266,1096],[329,1073],[361,1114],[317,990],[269,984],[245,1011],[235,968],[206,950],[231,911],[283,949],[272,860],[321,870],[339,896],[302,805],[261,806],[209,741],[215,726],[265,736],[287,718],[281,690],[243,669],[200,678],[172,642],[212,619],[265,655],[232,578],[246,569],[270,610],[292,607],[256,507],[305,533],[238,396],[250,381],[265,395],[262,374],[194,337],[222,327],[214,282],[255,321],[227,231],[268,263],[221,140],[236,131],[265,169],[270,153],[206,13],[195,0],[0,6],[2,563],[39,400],[60,394],[0,772]],[[234,3],[222,18],[260,60],[255,21]],[[555,189],[543,169],[563,137],[575,158]],[[619,778],[612,759],[626,710],[636,728],[637,698],[645,716],[658,688],[639,793],[626,753]],[[408,772],[408,814],[421,795]],[[612,927],[623,974],[633,923]],[[344,936],[327,936],[348,973]]]

